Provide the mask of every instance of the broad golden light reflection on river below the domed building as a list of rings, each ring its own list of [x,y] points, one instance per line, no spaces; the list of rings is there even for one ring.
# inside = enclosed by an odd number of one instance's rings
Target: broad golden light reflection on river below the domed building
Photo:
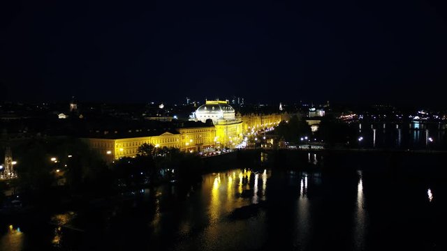
[[[236,174],[239,174],[239,179],[234,182]],[[207,204],[209,198],[208,223],[196,233],[194,240],[184,239],[175,245],[174,250],[261,248],[265,239],[265,212],[262,209],[256,211],[256,208],[252,211],[249,208],[259,202],[260,176],[250,169],[205,175],[202,183],[203,197],[200,199]],[[265,193],[268,178],[266,171],[261,178]],[[242,208],[241,211],[237,211],[238,208]],[[196,222],[195,219],[189,220],[191,224]],[[247,234],[247,229],[250,229],[250,234]]]

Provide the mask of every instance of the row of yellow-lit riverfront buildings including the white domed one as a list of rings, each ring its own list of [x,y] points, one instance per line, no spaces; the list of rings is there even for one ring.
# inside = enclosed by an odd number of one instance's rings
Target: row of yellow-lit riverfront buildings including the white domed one
[[[207,121],[210,119],[209,121]],[[209,148],[235,147],[242,142],[244,134],[272,128],[282,120],[288,120],[288,114],[235,114],[228,101],[207,100],[176,130],[140,132],[133,135],[105,133],[85,137],[91,149],[97,151],[105,160],[112,161],[122,157],[135,157],[138,146],[153,144],[156,147],[174,147],[183,152],[206,151]],[[193,122],[196,121],[196,122]],[[198,122],[200,121],[200,122]],[[211,123],[212,121],[212,123]],[[204,122],[204,123],[202,123]],[[129,131],[130,132],[130,131]]]

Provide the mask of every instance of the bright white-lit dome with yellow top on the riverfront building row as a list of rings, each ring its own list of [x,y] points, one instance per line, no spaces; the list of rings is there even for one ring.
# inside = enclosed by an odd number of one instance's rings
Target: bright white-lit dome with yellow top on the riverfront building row
[[[207,100],[205,105],[200,105],[196,110],[196,119],[204,123],[207,119],[212,119],[213,123],[219,119],[234,120],[235,109],[228,105],[228,101]]]

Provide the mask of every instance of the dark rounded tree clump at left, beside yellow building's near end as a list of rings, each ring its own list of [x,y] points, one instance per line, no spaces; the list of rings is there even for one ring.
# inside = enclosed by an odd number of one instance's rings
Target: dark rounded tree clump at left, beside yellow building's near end
[[[105,178],[110,176],[107,165],[80,139],[33,139],[17,146],[14,153],[17,185],[22,193],[32,197],[48,197],[61,178],[66,188],[75,193],[94,193],[111,187],[110,178]]]

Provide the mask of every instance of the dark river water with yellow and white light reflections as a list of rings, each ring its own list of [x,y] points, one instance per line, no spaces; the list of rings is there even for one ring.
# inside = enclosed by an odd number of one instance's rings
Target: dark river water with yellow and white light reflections
[[[447,250],[446,177],[353,166],[231,169],[1,219],[0,250]]]

